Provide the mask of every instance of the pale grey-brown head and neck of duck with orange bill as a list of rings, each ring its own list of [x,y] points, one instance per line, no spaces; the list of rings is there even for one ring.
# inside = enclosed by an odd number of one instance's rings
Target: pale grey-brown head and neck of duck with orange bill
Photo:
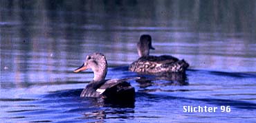
[[[93,80],[94,81],[101,81],[107,75],[107,60],[106,57],[101,53],[93,53],[86,56],[86,60],[84,61],[83,65],[74,70],[75,73],[84,71],[86,69],[93,70]]]

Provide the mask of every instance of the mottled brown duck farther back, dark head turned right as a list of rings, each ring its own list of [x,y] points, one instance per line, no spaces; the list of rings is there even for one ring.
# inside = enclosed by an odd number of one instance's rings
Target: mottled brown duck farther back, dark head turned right
[[[143,34],[137,43],[140,58],[129,65],[129,71],[140,74],[185,73],[190,66],[185,60],[179,60],[174,56],[150,56],[149,49],[155,49],[152,46],[152,37]]]

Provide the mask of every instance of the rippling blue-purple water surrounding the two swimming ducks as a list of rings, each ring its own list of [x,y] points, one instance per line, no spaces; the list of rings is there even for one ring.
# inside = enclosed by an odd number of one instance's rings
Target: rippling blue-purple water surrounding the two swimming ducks
[[[1,122],[255,122],[255,1],[1,1]],[[127,67],[136,42],[190,63],[186,76],[141,76]],[[107,56],[107,78],[129,80],[128,105],[80,98]],[[145,82],[147,80],[147,82]],[[184,113],[183,106],[217,107]],[[231,112],[221,112],[230,106]]]

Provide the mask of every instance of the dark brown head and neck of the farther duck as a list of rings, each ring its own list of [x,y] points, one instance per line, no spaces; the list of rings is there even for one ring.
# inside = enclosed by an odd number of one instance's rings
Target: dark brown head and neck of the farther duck
[[[149,56],[149,49],[155,49],[152,47],[152,38],[149,34],[143,34],[137,43],[138,56]]]

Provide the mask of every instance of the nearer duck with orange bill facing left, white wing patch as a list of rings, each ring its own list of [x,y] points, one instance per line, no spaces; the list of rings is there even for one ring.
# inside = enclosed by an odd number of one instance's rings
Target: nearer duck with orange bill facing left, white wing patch
[[[82,90],[80,97],[91,98],[134,98],[135,89],[126,79],[105,80],[107,75],[107,59],[102,53],[95,52],[86,56],[81,67],[73,72],[78,73],[86,69],[92,69],[93,80]]]

